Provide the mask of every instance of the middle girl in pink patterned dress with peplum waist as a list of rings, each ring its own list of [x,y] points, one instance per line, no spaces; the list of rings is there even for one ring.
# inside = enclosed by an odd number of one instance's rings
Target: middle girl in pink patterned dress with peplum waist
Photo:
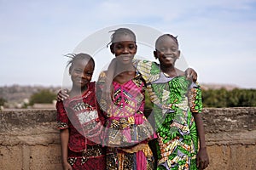
[[[132,65],[137,53],[135,34],[125,28],[114,31],[110,50],[117,59],[117,76],[112,83],[113,98],[102,97],[100,102],[107,116],[104,135],[104,144],[108,146],[107,169],[153,169],[154,159],[148,140],[156,136],[143,114],[145,84]],[[108,82],[107,74],[107,71],[100,74],[100,87],[105,87],[104,83]]]

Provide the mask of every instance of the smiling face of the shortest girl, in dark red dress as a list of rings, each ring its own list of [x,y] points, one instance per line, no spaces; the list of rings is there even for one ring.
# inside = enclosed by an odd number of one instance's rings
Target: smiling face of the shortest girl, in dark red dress
[[[78,59],[69,68],[69,74],[73,82],[73,88],[87,88],[94,71],[94,64],[88,59]]]

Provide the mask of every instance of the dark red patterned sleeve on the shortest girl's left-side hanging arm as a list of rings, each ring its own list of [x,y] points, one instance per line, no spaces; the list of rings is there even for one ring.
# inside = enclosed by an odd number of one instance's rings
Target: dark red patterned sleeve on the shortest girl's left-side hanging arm
[[[58,129],[65,129],[68,127],[68,116],[67,112],[64,108],[63,102],[58,101],[56,103],[56,109],[57,109],[57,128]]]

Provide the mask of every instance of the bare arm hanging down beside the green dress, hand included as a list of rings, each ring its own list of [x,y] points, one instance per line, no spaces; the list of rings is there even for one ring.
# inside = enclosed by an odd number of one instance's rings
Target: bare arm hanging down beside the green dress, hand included
[[[193,113],[195,125],[200,140],[200,149],[196,157],[196,166],[200,169],[205,169],[209,165],[209,157],[207,154],[207,145],[205,140],[205,130],[201,119],[201,113]]]

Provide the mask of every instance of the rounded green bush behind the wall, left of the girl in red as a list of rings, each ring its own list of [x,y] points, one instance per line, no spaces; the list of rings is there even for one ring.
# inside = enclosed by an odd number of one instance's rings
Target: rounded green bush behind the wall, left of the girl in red
[[[48,89],[44,89],[38,93],[32,94],[30,97],[29,105],[34,105],[35,103],[51,104],[54,99],[56,99],[56,94],[49,91]]]

